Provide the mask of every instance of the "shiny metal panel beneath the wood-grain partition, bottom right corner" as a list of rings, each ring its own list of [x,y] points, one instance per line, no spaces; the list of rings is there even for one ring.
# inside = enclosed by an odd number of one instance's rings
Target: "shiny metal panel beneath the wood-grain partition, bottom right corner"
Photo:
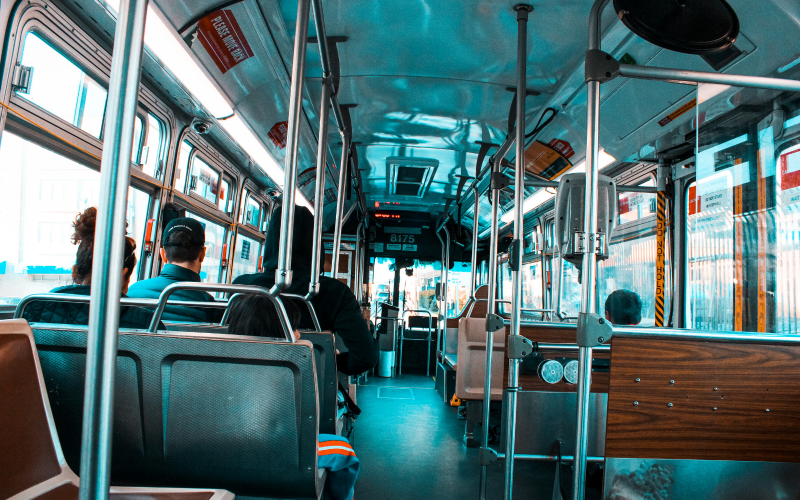
[[[800,464],[607,458],[603,498],[773,500],[800,498]]]

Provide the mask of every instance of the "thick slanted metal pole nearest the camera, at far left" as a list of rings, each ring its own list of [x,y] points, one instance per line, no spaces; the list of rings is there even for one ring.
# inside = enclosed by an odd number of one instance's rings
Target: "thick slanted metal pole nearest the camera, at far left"
[[[100,203],[92,255],[79,498],[108,498],[114,423],[119,299],[125,255],[133,121],[142,68],[147,0],[120,2],[100,164]]]

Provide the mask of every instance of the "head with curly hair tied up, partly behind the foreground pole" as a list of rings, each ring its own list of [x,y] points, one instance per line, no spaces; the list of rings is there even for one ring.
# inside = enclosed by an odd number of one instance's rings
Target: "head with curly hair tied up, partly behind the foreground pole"
[[[92,255],[94,254],[94,229],[97,222],[97,209],[89,207],[75,217],[72,227],[72,243],[78,245],[75,265],[72,266],[72,281],[78,285],[92,284]],[[122,258],[122,293],[128,293],[131,274],[136,268],[136,241],[125,237],[125,254]]]

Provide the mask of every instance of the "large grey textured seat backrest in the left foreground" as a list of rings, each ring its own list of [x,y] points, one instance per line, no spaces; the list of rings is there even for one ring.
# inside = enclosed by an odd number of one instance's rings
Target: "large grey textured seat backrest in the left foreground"
[[[34,330],[55,425],[77,470],[85,328]],[[317,497],[311,342],[121,332],[112,481]]]

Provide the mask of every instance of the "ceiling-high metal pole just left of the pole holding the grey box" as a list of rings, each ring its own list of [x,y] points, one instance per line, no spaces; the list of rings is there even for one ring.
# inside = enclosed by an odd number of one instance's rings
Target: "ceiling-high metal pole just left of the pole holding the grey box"
[[[522,314],[522,218],[525,203],[525,96],[528,57],[528,14],[533,7],[526,4],[514,6],[517,13],[517,152],[514,175],[514,262],[511,266],[511,335],[519,335]],[[506,476],[505,500],[510,500],[514,491],[514,441],[516,438],[517,392],[519,391],[519,359],[508,360],[508,390],[506,408]]]

